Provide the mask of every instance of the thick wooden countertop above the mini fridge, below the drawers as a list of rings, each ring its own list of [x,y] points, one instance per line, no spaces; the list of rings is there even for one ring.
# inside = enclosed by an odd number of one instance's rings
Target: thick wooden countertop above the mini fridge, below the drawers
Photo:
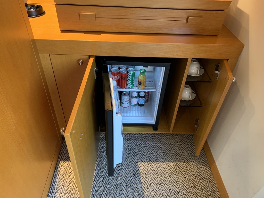
[[[218,36],[60,31],[52,0],[28,3],[46,11],[29,19],[40,54],[238,59],[244,47],[224,25]]]

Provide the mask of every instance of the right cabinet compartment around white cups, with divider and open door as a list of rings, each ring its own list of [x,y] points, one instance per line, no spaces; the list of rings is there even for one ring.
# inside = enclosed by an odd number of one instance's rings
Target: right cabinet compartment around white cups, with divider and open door
[[[191,58],[181,59],[175,63],[176,67],[172,67],[164,97],[164,109],[167,115],[169,132],[193,133],[196,156],[201,152],[216,115],[233,81],[232,72],[227,60],[200,59],[200,62],[205,68],[206,74],[209,75],[210,81],[192,82],[192,86],[195,88],[197,97],[199,97],[201,102],[199,106],[180,107],[181,94],[183,86],[187,83],[186,79]],[[215,73],[216,65],[219,65],[219,76]],[[216,79],[216,77],[218,78]]]

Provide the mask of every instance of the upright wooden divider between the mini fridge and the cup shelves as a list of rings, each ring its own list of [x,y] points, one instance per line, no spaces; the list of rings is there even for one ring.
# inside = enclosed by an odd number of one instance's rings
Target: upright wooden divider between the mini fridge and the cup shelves
[[[170,67],[164,95],[164,110],[169,132],[173,130],[176,114],[181,100],[181,93],[187,78],[191,59],[174,59]]]

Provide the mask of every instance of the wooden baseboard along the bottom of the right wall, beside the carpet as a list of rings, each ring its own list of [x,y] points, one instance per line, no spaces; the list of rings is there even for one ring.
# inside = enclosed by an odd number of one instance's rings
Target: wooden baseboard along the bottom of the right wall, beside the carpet
[[[221,178],[221,175],[219,173],[219,170],[218,170],[218,168],[216,166],[216,163],[215,163],[215,160],[214,160],[214,156],[213,156],[213,154],[211,152],[211,149],[210,149],[210,147],[208,145],[207,140],[204,143],[204,152],[206,154],[206,158],[208,160],[208,163],[210,165],[211,171],[213,173],[213,176],[214,176],[214,179],[215,179],[216,185],[218,187],[218,191],[219,191],[219,194],[220,194],[221,198],[229,198],[227,190],[226,190],[225,185],[224,185],[224,182],[223,182],[223,180]]]

